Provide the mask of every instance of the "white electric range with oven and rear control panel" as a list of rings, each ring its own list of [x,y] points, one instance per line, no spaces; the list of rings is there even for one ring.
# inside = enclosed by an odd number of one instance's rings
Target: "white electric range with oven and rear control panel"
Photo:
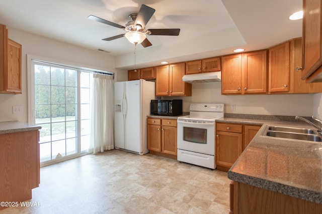
[[[215,120],[224,104],[190,104],[190,115],[177,120],[177,160],[215,169]]]

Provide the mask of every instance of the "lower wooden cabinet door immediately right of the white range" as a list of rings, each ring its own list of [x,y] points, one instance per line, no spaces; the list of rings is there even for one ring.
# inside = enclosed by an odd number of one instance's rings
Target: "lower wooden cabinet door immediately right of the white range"
[[[231,167],[243,151],[243,134],[217,131],[216,164]]]

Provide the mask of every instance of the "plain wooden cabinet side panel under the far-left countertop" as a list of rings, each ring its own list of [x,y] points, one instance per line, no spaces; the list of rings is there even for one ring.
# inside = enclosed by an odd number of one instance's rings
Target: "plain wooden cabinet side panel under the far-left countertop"
[[[38,130],[0,134],[0,201],[24,201],[38,186]]]

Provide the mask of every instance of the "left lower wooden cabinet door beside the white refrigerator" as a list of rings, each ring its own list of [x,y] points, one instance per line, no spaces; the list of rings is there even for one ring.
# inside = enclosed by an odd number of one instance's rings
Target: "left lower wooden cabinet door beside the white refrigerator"
[[[147,125],[147,148],[151,151],[161,151],[160,125]]]

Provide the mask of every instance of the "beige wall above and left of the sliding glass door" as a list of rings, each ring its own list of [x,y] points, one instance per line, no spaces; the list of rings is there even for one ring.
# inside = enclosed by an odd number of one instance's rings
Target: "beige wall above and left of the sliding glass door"
[[[9,38],[22,45],[22,94],[0,94],[0,122],[27,121],[27,54],[41,56],[70,65],[100,69],[116,73],[116,79],[124,80],[124,71],[115,69],[115,59],[106,53],[89,50],[34,34],[19,31],[7,26]],[[120,77],[117,77],[120,72]],[[127,77],[126,77],[127,78]],[[13,114],[12,106],[22,106],[21,114]]]

